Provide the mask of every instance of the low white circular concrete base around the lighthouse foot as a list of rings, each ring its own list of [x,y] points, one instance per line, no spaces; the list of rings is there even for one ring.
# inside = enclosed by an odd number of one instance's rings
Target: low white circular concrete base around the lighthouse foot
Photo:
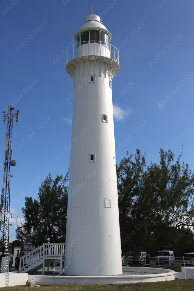
[[[35,285],[101,285],[126,284],[138,282],[171,281],[175,279],[175,271],[159,268],[122,267],[123,274],[116,276],[48,276],[30,275]]]

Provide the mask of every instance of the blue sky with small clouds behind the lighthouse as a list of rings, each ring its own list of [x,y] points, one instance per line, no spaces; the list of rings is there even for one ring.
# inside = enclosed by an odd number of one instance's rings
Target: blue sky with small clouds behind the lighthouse
[[[178,157],[183,146],[181,160],[194,169],[193,0],[1,0],[0,108],[19,109],[13,125],[17,165],[11,168],[10,241],[24,197],[36,198],[49,173],[55,177],[68,170],[73,99],[67,97],[73,80],[64,53],[92,5],[120,50],[120,72],[112,84],[117,162],[136,148],[147,150],[147,163],[157,161],[160,147]],[[3,122],[0,132],[2,175]],[[59,158],[64,147],[67,153]]]

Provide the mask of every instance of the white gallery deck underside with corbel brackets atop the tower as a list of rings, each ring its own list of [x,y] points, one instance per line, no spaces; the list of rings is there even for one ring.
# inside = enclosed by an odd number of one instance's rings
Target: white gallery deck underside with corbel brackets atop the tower
[[[112,81],[113,77],[119,72],[119,64],[114,61],[111,58],[105,57],[105,56],[81,56],[79,58],[75,58],[72,61],[70,61],[67,66],[66,66],[66,70],[67,73],[70,74],[71,77],[73,77],[73,79],[75,80],[76,78],[76,74],[78,74],[78,76],[80,76],[80,73],[82,76],[84,76],[84,66],[83,63],[87,62],[88,65],[90,63],[90,61],[99,61],[101,62],[101,74],[100,76],[102,76],[102,66],[105,65],[105,71],[106,74],[108,74],[108,78]],[[77,64],[81,64],[81,66],[78,66]],[[79,70],[82,70],[82,72],[80,72]],[[105,75],[105,77],[107,77]]]

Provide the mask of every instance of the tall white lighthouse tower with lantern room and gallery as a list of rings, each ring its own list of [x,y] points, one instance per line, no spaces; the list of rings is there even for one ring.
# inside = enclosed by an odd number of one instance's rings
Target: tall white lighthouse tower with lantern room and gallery
[[[74,79],[65,274],[122,274],[112,79],[119,52],[98,15],[88,15],[67,51]]]

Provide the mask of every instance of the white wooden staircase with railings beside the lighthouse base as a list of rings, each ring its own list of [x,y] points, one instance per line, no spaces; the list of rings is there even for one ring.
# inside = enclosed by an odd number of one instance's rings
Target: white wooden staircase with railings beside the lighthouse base
[[[44,275],[46,266],[47,271],[49,271],[49,267],[51,267],[55,272],[55,260],[59,260],[60,274],[63,273],[65,244],[66,243],[44,243],[37,249],[23,255],[19,261],[19,272],[29,273],[42,269],[42,274]],[[53,263],[53,266],[51,266],[51,263]]]

